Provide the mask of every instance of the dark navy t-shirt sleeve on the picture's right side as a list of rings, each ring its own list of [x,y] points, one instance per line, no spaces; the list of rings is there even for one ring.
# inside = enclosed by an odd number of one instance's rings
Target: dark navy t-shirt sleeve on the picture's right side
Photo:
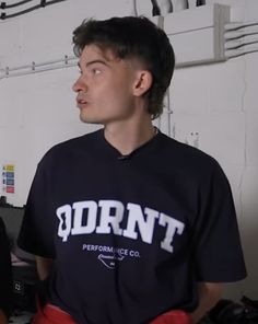
[[[194,262],[199,281],[231,282],[246,277],[237,218],[228,181],[215,162],[200,188],[194,234]]]

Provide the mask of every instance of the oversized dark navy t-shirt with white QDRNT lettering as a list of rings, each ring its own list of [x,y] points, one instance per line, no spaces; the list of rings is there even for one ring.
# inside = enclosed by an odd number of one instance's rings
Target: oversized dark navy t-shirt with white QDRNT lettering
[[[98,130],[39,162],[19,238],[54,258],[47,300],[80,324],[143,324],[246,275],[218,162],[159,132],[124,157]]]

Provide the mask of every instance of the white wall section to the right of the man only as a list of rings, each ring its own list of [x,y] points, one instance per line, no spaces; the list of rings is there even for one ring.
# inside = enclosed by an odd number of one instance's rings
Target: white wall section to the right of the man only
[[[216,2],[236,4],[233,20],[258,21],[258,1]],[[227,289],[227,296],[235,298],[245,293],[258,299],[257,84],[255,53],[226,62],[177,69],[171,86],[175,137],[216,158],[232,185],[249,273],[244,282]]]

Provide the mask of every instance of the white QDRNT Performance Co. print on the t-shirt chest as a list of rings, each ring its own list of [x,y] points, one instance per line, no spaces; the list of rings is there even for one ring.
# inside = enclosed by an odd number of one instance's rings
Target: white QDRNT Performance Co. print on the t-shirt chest
[[[57,208],[58,236],[63,244],[73,235],[114,234],[152,244],[157,227],[164,231],[160,248],[173,253],[173,241],[184,232],[185,224],[164,212],[138,204],[124,205],[119,200],[83,200]],[[113,246],[83,244],[83,250],[99,252],[98,259],[114,268],[125,257],[140,257],[138,251]]]

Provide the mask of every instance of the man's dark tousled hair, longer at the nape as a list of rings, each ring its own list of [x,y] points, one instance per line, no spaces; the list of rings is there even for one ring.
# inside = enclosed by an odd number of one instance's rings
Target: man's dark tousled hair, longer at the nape
[[[73,50],[79,57],[86,45],[110,49],[118,58],[138,59],[152,73],[146,92],[152,118],[163,112],[163,99],[175,68],[175,55],[165,32],[144,16],[84,20],[73,32]]]

